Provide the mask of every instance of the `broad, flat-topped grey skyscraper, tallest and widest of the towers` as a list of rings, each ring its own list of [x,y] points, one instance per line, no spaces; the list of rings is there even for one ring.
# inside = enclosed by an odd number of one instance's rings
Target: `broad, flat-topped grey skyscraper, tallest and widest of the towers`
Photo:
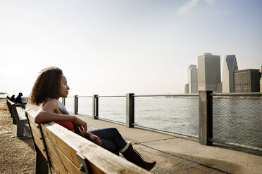
[[[197,57],[199,91],[217,92],[220,76],[220,55],[204,53]]]

